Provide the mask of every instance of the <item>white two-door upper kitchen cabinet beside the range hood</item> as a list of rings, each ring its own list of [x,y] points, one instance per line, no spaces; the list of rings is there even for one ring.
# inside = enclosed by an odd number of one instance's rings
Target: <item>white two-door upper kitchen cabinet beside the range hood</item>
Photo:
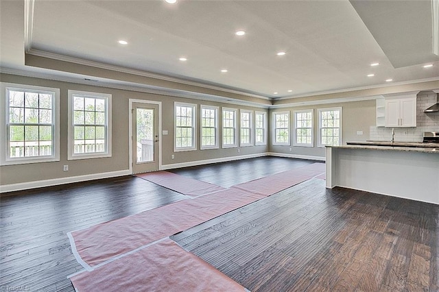
[[[385,127],[416,127],[416,94],[385,98]]]

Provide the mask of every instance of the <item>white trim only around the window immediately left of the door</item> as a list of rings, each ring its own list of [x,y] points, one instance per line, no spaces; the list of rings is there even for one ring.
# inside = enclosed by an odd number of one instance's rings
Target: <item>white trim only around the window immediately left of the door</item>
[[[111,157],[111,144],[112,144],[112,130],[111,130],[111,95],[106,93],[92,93],[80,90],[68,90],[69,105],[68,105],[68,146],[67,146],[67,160],[80,160],[80,159],[92,159],[92,158],[106,158]],[[81,153],[74,154],[74,142],[75,142],[75,130],[73,128],[73,95],[82,95],[84,97],[94,97],[100,99],[106,99],[106,151],[99,153]]]

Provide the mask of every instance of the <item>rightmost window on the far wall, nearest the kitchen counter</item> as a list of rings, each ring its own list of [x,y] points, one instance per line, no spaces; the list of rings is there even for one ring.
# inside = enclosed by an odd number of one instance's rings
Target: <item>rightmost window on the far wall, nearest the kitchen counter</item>
[[[342,108],[328,108],[318,111],[319,147],[342,144]]]

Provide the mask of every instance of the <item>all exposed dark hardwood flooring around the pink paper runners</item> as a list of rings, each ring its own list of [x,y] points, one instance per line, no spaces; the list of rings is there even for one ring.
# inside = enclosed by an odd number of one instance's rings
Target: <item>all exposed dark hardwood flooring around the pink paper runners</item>
[[[313,163],[174,172],[221,186]],[[0,291],[74,291],[66,233],[185,198],[126,176],[2,194]],[[439,206],[310,180],[172,236],[252,291],[439,291]]]

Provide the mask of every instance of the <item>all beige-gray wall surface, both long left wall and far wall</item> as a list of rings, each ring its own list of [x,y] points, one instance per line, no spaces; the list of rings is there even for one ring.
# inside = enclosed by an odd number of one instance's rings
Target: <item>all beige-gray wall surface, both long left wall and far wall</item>
[[[214,101],[201,101],[200,99],[186,99],[180,97],[169,97],[165,95],[155,95],[150,93],[140,93],[130,90],[119,90],[102,86],[91,86],[86,84],[75,84],[71,82],[60,82],[54,80],[44,80],[34,77],[23,77],[16,75],[1,74],[1,82],[27,84],[34,86],[47,86],[60,88],[60,161],[44,162],[27,165],[8,165],[0,167],[0,183],[18,184],[23,182],[34,182],[40,180],[52,180],[59,178],[69,178],[78,175],[93,175],[112,171],[126,171],[130,168],[129,158],[129,99],[143,99],[162,102],[162,130],[167,130],[168,135],[162,136],[162,165],[175,165],[185,162],[197,162],[200,160],[211,159],[232,159],[246,157],[249,155],[265,154],[273,152],[280,155],[292,156],[314,156],[324,158],[324,148],[317,147],[318,143],[318,109],[342,107],[342,136],[343,143],[346,141],[366,141],[370,137],[370,129],[375,126],[375,100],[351,101],[342,104],[322,104],[317,106],[298,106],[266,108],[253,106],[238,106],[233,104],[223,104]],[[67,90],[84,90],[97,93],[108,93],[112,95],[112,157],[95,158],[85,160],[67,160]],[[2,93],[4,94],[4,93]],[[289,110],[292,119],[294,110],[311,109],[314,110],[314,147],[294,147],[272,146],[271,132],[268,134],[268,145],[237,147],[222,149],[200,150],[200,122],[197,121],[198,129],[196,151],[178,151],[174,153],[174,102],[186,102],[198,104],[198,117],[200,104],[219,106],[219,110],[226,108],[237,108],[246,110],[258,110],[268,112],[268,128],[272,126],[272,112]],[[286,106],[286,105],[285,105]],[[253,114],[254,119],[254,114]],[[219,119],[219,123],[221,119]],[[1,121],[2,126],[4,121]],[[291,122],[291,130],[293,130]],[[239,119],[238,125],[239,127]],[[363,135],[357,135],[357,131],[362,131]],[[219,135],[221,136],[221,123],[219,124]],[[289,149],[292,149],[291,151]],[[237,149],[240,150],[238,153]],[[175,156],[171,159],[171,155]],[[63,165],[69,165],[69,171],[62,171]]]

